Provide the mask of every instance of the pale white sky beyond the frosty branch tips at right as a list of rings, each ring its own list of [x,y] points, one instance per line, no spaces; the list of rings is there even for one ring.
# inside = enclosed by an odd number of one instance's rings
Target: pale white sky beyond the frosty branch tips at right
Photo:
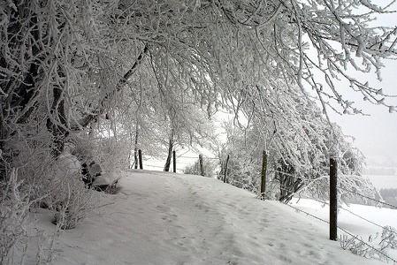
[[[377,0],[376,4],[390,3],[391,1]],[[393,10],[397,10],[397,3],[393,4]],[[397,13],[386,14],[378,17],[377,25],[397,26]],[[376,87],[382,87],[384,92],[397,95],[397,61],[384,62],[386,67],[382,71],[383,81]],[[376,84],[375,74],[370,77],[370,85]],[[348,89],[349,87],[346,87]],[[349,92],[346,94],[351,96]],[[353,95],[355,102],[361,102],[363,111],[370,117],[343,116],[331,114],[332,120],[342,126],[343,132],[355,137],[355,146],[360,148],[367,157],[369,166],[393,166],[397,167],[397,113],[390,114],[386,107],[371,105],[363,102],[363,96]],[[393,105],[397,105],[397,98],[389,99]],[[330,111],[331,112],[331,111]]]

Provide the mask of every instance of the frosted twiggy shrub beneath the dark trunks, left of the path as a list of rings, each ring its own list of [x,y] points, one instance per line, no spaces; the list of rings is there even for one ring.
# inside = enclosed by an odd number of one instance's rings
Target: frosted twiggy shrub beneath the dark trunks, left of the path
[[[14,137],[7,142],[5,147],[18,154],[7,167],[19,166],[21,194],[33,201],[29,207],[40,206],[57,211],[55,219],[60,222],[56,223],[63,229],[73,228],[95,207],[95,201],[91,201],[92,194],[82,181],[80,161],[72,155],[72,142],[78,139],[79,134],[69,135],[62,152],[54,156],[55,140],[45,127],[36,133],[28,131],[29,137],[22,140]],[[23,130],[19,133],[25,134]]]

